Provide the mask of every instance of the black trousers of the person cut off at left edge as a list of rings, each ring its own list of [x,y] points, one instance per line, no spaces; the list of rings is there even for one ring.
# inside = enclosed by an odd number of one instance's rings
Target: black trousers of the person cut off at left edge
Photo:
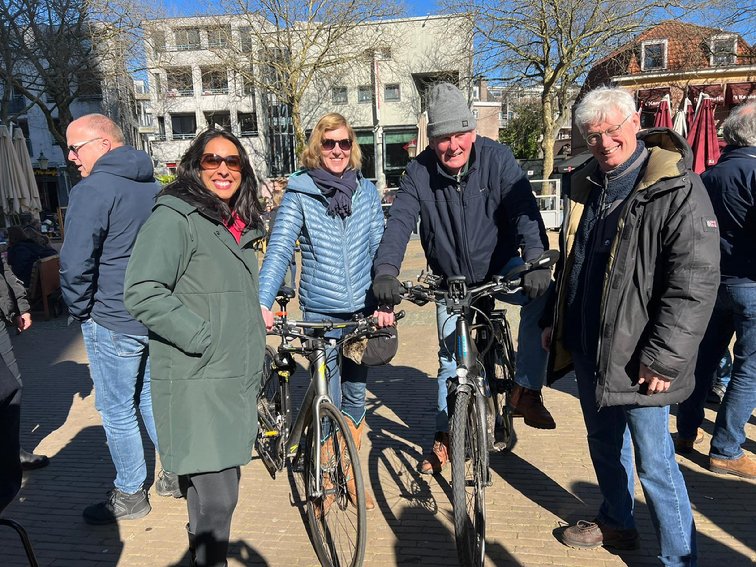
[[[0,323],[0,511],[21,488],[19,431],[21,373],[5,326]]]

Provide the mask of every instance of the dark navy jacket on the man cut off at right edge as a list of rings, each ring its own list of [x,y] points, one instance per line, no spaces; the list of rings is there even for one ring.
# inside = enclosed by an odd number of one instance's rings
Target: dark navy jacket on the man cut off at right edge
[[[719,221],[722,280],[756,281],[756,146],[727,146],[701,179]]]

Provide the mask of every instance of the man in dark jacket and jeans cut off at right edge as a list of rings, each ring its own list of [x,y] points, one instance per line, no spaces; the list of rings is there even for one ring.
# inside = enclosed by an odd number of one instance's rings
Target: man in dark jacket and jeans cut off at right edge
[[[745,425],[756,406],[756,103],[738,106],[722,123],[727,147],[701,175],[719,221],[722,280],[696,365],[696,389],[677,411],[677,450],[690,452],[704,418],[704,402],[723,352],[735,335],[730,383],[717,412],[709,468],[756,478],[743,451]]]

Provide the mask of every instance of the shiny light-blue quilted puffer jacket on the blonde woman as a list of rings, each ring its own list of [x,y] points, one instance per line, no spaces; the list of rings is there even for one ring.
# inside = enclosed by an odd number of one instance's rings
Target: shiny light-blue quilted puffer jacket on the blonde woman
[[[383,236],[378,190],[358,176],[352,214],[327,213],[328,201],[307,174],[289,177],[260,272],[260,305],[271,308],[299,239],[299,304],[318,313],[354,313],[365,307],[373,256]]]

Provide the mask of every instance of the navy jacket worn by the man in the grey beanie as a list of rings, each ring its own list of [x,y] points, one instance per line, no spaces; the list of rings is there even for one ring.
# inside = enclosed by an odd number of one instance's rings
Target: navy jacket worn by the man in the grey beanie
[[[500,273],[520,251],[533,260],[548,248],[530,182],[509,148],[477,136],[468,165],[450,175],[431,148],[410,162],[389,209],[376,275],[399,274],[418,216],[433,273],[473,284]]]

